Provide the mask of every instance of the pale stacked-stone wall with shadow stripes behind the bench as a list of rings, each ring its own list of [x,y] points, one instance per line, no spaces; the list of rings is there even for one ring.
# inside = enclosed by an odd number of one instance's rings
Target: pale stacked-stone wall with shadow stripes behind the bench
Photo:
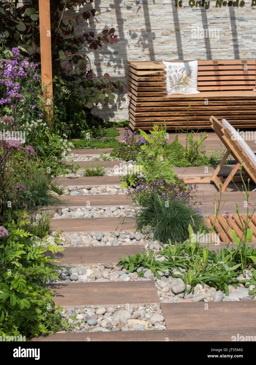
[[[253,59],[253,3],[256,0],[95,0],[86,6],[96,9],[90,30],[114,27],[120,41],[88,55],[98,74],[108,72],[123,82],[127,60]],[[96,107],[93,113],[105,120],[128,119],[127,99],[118,96],[114,106]]]

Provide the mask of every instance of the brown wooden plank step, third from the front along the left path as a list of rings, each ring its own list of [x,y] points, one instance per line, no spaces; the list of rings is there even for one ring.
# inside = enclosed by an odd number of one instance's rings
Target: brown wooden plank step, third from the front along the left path
[[[59,260],[57,265],[97,265],[106,262],[116,264],[121,257],[133,256],[143,252],[143,249],[144,245],[65,247],[62,252],[47,251],[46,255]]]

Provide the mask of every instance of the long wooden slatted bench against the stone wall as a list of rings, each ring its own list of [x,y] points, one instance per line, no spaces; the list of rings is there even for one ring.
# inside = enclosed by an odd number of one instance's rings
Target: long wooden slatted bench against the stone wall
[[[165,118],[168,129],[183,129],[186,120],[182,116],[189,104],[189,128],[209,128],[212,114],[227,119],[234,128],[255,128],[255,66],[252,59],[199,60],[200,94],[167,95],[162,61],[128,61],[130,128],[148,130],[163,124]]]

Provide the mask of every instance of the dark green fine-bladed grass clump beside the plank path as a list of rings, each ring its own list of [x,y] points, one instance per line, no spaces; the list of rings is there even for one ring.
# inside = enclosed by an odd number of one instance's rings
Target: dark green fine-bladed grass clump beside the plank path
[[[143,207],[136,213],[136,230],[146,235],[153,234],[152,239],[160,243],[183,242],[188,235],[188,224],[194,232],[200,226],[207,229],[203,216],[181,201],[165,200],[152,192],[143,202]]]

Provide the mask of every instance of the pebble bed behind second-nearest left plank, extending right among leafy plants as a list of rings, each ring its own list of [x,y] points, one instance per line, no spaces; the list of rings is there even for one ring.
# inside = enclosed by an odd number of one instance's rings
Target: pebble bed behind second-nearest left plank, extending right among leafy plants
[[[163,261],[164,258],[160,258]],[[180,268],[180,271],[185,269]],[[138,273],[142,272],[142,276]],[[179,273],[177,269],[172,270],[173,274]],[[215,288],[209,285],[197,284],[191,291],[191,286],[187,285],[185,293],[185,284],[181,278],[172,277],[169,272],[163,273],[158,271],[161,279],[157,279],[150,269],[145,269],[142,266],[136,271],[128,273],[126,269],[114,264],[98,264],[98,265],[79,265],[69,269],[58,270],[59,278],[53,281],[47,281],[46,284],[54,283],[93,283],[93,282],[110,282],[110,281],[154,281],[160,303],[180,303],[180,302],[209,302],[209,301],[239,301],[253,300],[248,292],[252,288],[245,288],[244,284],[240,284],[243,280],[242,275],[238,276],[237,288],[229,285],[229,296],[226,296],[222,291],[216,291]],[[247,270],[245,278],[252,276],[250,270]],[[256,300],[256,297],[255,297]]]

